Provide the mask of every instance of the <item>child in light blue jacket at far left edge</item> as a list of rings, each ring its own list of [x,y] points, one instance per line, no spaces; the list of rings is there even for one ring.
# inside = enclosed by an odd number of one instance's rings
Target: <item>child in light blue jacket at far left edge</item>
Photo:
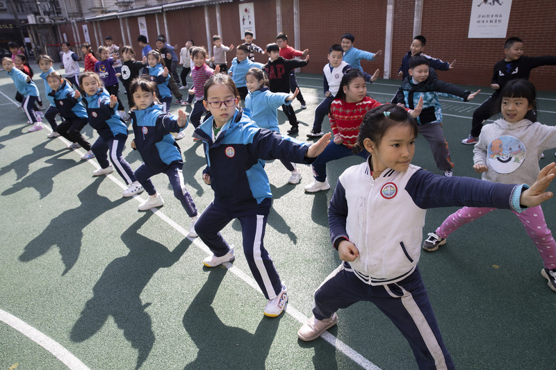
[[[42,130],[42,124],[40,120],[37,119],[35,110],[33,109],[35,101],[37,101],[37,97],[39,96],[37,85],[31,81],[31,77],[27,76],[19,69],[14,68],[14,63],[11,58],[2,58],[2,67],[8,72],[8,76],[12,78],[19,94],[23,96],[22,109],[27,116],[28,123],[33,124],[33,127],[29,128],[28,131],[33,133],[34,131]]]

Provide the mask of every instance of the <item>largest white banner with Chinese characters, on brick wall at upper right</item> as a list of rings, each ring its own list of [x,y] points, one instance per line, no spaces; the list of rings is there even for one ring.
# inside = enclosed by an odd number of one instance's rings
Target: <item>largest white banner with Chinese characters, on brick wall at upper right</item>
[[[470,0],[469,38],[506,38],[512,0]]]

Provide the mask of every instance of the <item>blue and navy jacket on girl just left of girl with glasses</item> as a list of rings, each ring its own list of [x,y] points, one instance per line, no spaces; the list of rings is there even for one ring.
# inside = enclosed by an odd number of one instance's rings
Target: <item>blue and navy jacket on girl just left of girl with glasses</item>
[[[183,165],[179,146],[170,134],[183,130],[175,116],[153,103],[145,110],[131,112],[131,121],[137,150],[149,169],[163,171],[168,165]]]

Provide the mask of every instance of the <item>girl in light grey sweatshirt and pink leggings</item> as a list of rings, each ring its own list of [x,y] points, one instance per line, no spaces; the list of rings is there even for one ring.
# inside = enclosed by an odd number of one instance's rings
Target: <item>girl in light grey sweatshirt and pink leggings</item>
[[[526,119],[530,110],[537,110],[537,93],[527,80],[509,81],[498,97],[502,119],[487,124],[473,149],[473,169],[482,179],[492,183],[532,184],[539,174],[539,157],[546,149],[556,147],[556,127],[533,123]],[[536,116],[536,114],[535,114]],[[464,207],[448,216],[442,225],[423,242],[425,251],[436,251],[455,230],[493,211],[494,208]],[[556,291],[556,242],[546,226],[540,205],[514,214],[525,226],[534,242],[544,268],[541,274]]]

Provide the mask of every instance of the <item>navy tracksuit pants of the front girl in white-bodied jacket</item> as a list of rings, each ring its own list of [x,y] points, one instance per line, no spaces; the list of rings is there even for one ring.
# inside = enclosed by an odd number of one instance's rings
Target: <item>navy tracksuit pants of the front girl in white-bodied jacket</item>
[[[346,263],[332,271],[316,290],[313,314],[317,319],[328,319],[339,308],[359,301],[374,303],[407,339],[420,370],[455,369],[418,267],[398,283],[368,285]]]

